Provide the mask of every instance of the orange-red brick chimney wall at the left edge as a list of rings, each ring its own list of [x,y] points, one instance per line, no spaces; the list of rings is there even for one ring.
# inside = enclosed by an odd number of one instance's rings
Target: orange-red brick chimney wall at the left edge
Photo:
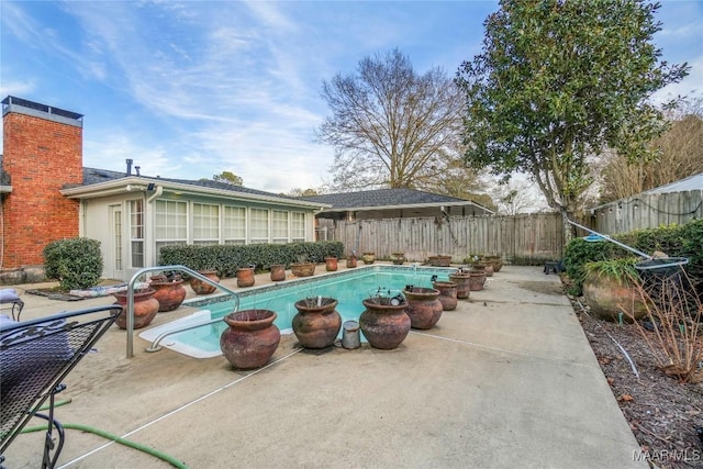
[[[79,202],[64,185],[82,183],[82,129],[15,112],[3,119],[2,268],[41,265],[47,243],[78,236]]]

